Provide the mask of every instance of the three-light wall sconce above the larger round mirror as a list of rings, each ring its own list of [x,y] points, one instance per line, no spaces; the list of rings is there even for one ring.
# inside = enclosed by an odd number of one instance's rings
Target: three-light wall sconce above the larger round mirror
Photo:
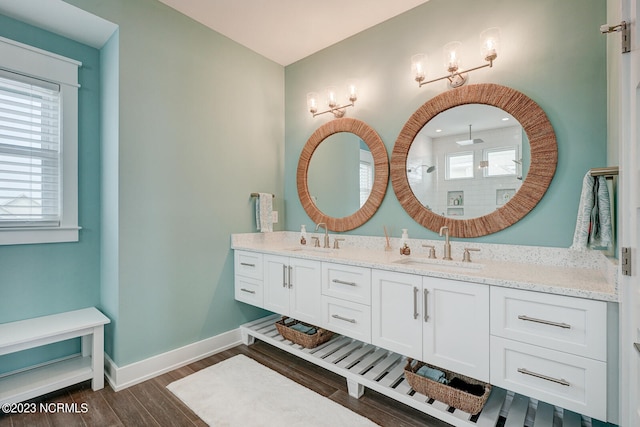
[[[493,61],[498,57],[498,49],[500,47],[500,29],[489,28],[484,30],[480,33],[480,40],[482,42],[480,53],[482,54],[482,58],[487,61],[486,64],[468,70],[461,70],[460,48],[462,43],[450,42],[443,47],[444,66],[449,74],[429,81],[425,81],[427,56],[421,53],[413,55],[411,57],[411,73],[413,74],[413,78],[418,82],[418,86],[421,87],[427,83],[447,79],[449,80],[450,87],[460,87],[467,82],[467,74],[471,71],[485,67],[493,67]]]

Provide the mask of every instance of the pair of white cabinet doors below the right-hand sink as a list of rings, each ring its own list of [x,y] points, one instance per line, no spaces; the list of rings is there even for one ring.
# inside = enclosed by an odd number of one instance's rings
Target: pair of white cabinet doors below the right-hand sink
[[[372,343],[489,381],[489,287],[372,271]]]

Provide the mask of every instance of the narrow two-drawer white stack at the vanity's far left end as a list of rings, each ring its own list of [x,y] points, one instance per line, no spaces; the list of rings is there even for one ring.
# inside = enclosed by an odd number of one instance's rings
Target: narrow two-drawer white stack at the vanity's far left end
[[[256,307],[263,306],[262,254],[234,251],[235,298]]]

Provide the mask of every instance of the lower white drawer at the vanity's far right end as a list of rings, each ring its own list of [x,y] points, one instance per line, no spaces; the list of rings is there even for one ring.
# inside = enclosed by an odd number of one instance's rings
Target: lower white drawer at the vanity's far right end
[[[606,363],[491,337],[491,384],[552,405],[607,418]]]

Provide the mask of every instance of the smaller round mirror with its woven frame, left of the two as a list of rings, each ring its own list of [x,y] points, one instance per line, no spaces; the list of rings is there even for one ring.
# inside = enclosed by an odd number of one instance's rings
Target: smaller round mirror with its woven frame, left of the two
[[[300,202],[313,222],[332,231],[352,230],[382,203],[389,179],[387,151],[366,123],[332,120],[307,140],[296,179]]]

